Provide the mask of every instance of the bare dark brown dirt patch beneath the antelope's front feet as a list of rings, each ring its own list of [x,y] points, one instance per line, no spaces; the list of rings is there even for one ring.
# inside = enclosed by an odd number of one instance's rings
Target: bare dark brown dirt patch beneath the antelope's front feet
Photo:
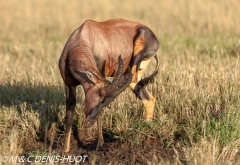
[[[114,140],[105,133],[104,140],[104,146],[96,151],[96,140],[82,143],[79,141],[78,136],[72,136],[71,150],[64,155],[87,155],[84,164],[153,164],[159,161],[169,162],[169,160],[173,160],[175,155],[173,149],[162,147],[159,139],[146,137],[146,140],[141,142],[141,144],[133,144],[131,143],[131,138]],[[63,141],[64,138],[61,137],[55,140],[53,144],[53,152],[59,153],[61,156],[63,156],[61,152]],[[43,142],[31,139],[23,141],[22,147],[24,149],[23,155],[29,155],[30,151],[47,149]]]

